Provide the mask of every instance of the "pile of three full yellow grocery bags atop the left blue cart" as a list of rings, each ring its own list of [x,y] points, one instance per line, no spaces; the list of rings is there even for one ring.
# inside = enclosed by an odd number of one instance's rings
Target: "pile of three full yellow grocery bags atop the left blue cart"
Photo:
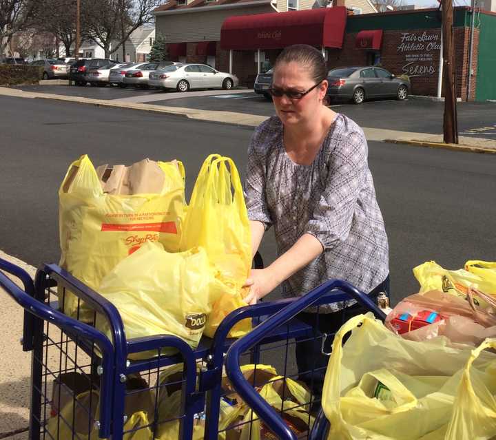
[[[128,338],[170,334],[196,348],[203,333],[213,337],[225,316],[247,305],[251,238],[231,159],[207,157],[188,207],[184,189],[176,160],[95,169],[81,156],[59,191],[61,266],[118,308]],[[59,303],[94,323],[94,311],[70,291],[59,292]],[[109,333],[103,316],[96,326]],[[250,329],[245,319],[229,336]]]

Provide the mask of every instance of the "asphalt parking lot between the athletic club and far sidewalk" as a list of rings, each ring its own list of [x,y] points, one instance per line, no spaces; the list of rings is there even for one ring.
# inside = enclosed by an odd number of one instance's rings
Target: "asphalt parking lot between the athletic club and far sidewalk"
[[[179,93],[128,87],[75,87],[67,85],[32,85],[19,87],[28,92],[81,96],[104,100],[146,102],[167,107],[218,110],[271,116],[273,105],[263,96],[248,90],[209,90]],[[444,103],[421,98],[406,101],[366,101],[362,105],[333,103],[335,112],[349,116],[362,127],[394,129],[402,132],[442,133]],[[457,103],[460,136],[496,140],[496,103]]]

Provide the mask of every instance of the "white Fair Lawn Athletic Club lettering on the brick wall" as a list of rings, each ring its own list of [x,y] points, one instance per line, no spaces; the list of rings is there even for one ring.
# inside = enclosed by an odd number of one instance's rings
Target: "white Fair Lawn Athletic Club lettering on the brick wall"
[[[440,32],[402,32],[397,54],[404,54],[402,73],[410,78],[431,76],[438,70]]]

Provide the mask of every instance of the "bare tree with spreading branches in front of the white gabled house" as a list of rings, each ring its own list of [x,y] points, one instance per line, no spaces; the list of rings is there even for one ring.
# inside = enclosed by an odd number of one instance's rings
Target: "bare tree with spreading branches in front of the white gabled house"
[[[161,3],[163,0],[87,0],[87,31],[109,58],[134,30],[153,21],[152,10]]]

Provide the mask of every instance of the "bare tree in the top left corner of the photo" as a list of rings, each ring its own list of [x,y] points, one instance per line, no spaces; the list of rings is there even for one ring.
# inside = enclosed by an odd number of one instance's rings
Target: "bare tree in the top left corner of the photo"
[[[30,27],[35,4],[36,0],[0,0],[0,56],[14,34]]]

